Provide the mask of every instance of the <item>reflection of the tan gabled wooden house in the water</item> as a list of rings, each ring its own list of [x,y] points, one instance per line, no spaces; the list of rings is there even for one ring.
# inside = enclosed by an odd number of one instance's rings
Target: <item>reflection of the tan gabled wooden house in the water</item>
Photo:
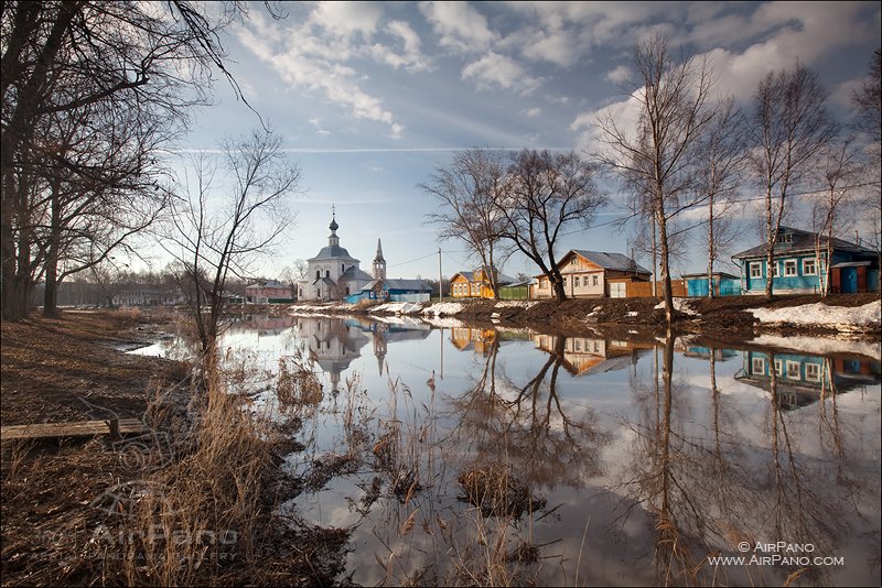
[[[634,366],[642,351],[653,348],[648,342],[588,337],[563,337],[561,341],[558,335],[534,335],[533,341],[542,351],[559,356],[563,368],[573,375],[603,373]]]

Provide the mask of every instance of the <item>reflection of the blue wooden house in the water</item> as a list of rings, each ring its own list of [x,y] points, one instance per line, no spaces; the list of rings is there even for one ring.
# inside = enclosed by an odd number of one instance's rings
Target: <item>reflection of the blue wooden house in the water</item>
[[[735,380],[772,392],[772,369],[777,382],[778,403],[794,410],[818,402],[822,396],[878,384],[880,364],[868,358],[842,358],[743,351],[744,363]]]

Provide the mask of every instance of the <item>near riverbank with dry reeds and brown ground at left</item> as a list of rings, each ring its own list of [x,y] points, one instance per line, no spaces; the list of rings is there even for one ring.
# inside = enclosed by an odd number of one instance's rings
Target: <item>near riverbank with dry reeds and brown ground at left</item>
[[[302,483],[291,433],[186,362],[130,355],[157,317],[2,323],[2,425],[137,418],[146,435],[2,443],[2,586],[330,585],[346,532],[273,514]],[[198,390],[207,390],[205,393]],[[217,393],[219,392],[219,393]],[[211,399],[211,400],[209,400]]]

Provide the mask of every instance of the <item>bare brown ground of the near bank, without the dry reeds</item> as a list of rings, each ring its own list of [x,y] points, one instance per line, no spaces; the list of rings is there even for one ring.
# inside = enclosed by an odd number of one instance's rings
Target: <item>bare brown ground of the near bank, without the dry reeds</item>
[[[163,402],[185,412],[193,394],[189,366],[125,352],[154,340],[158,327],[153,318],[127,312],[67,312],[57,319],[3,322],[2,425],[106,418],[96,407],[143,418],[148,405],[155,406],[158,391]],[[261,480],[262,536],[254,541],[256,549],[212,562],[211,574],[197,584],[316,586],[340,575],[345,531],[304,524],[292,529],[271,514],[302,486],[279,473],[290,449],[273,450]],[[4,440],[0,584],[128,584],[126,549],[116,548],[116,535],[109,549],[96,538],[108,536],[98,531],[108,521],[101,497],[135,500],[148,483],[144,470],[130,466],[120,444],[105,437]]]

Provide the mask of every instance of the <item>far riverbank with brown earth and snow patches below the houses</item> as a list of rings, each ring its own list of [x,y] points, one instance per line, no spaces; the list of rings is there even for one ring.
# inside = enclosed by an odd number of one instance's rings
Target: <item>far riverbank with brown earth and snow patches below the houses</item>
[[[675,298],[678,334],[725,335],[749,340],[761,334],[847,336],[878,339],[880,295],[840,294]],[[348,305],[301,303],[293,314],[407,315],[429,319],[455,318],[471,323],[530,327],[540,331],[578,335],[587,328],[620,328],[657,333],[666,328],[660,298],[579,298],[556,301],[466,301]]]

